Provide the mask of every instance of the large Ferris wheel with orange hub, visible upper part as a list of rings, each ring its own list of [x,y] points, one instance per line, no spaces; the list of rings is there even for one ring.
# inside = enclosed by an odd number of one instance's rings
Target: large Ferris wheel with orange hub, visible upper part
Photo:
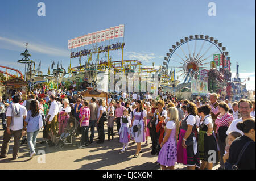
[[[223,54],[228,56],[226,47],[222,43],[214,40],[208,35],[190,35],[172,45],[169,52],[164,57],[163,66],[160,73],[165,82],[173,80],[175,72],[176,80],[190,82],[191,78],[199,73],[200,69],[209,69],[210,61],[213,60],[214,54]]]

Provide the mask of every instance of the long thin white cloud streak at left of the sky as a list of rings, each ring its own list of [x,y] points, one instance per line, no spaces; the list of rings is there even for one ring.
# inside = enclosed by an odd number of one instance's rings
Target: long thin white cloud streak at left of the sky
[[[18,40],[8,39],[6,37],[1,37],[1,36],[0,36],[0,42],[1,42],[0,48],[11,49],[11,50],[16,50],[15,47],[24,48],[25,43],[27,43],[27,41],[18,41]],[[33,43],[31,41],[28,41],[28,42],[29,42],[28,48],[30,50],[34,50],[35,52],[42,53],[42,54],[48,54],[51,56],[61,56],[61,57],[69,56],[68,50],[55,48],[55,47],[52,47],[49,45],[37,44],[37,43]]]

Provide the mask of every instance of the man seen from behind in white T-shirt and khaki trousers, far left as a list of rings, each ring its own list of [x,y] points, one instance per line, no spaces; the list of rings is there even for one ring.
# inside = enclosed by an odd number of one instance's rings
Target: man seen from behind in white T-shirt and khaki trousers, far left
[[[26,107],[19,104],[21,98],[19,95],[13,97],[13,104],[7,108],[6,117],[7,117],[7,128],[3,133],[3,144],[1,147],[0,158],[5,158],[9,150],[9,141],[11,137],[14,137],[14,146],[13,146],[13,159],[18,158],[19,152],[19,140],[22,136],[22,129],[24,120],[27,116]]]

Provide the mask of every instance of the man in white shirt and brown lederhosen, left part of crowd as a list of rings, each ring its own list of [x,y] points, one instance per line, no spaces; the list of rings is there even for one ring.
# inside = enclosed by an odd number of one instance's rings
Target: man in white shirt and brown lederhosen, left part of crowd
[[[55,100],[55,95],[51,95],[50,99],[51,107],[49,108],[46,131],[51,137],[51,142],[49,143],[49,146],[54,146],[57,135],[57,114],[59,112],[59,104]]]

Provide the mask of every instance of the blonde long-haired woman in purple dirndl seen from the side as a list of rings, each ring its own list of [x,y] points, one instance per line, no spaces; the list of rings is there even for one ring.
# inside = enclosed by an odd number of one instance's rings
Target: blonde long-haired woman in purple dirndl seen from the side
[[[177,136],[179,134],[179,112],[177,108],[168,108],[168,121],[166,124],[166,135],[161,143],[158,163],[162,170],[174,170],[177,161]],[[167,166],[167,167],[166,167]]]

